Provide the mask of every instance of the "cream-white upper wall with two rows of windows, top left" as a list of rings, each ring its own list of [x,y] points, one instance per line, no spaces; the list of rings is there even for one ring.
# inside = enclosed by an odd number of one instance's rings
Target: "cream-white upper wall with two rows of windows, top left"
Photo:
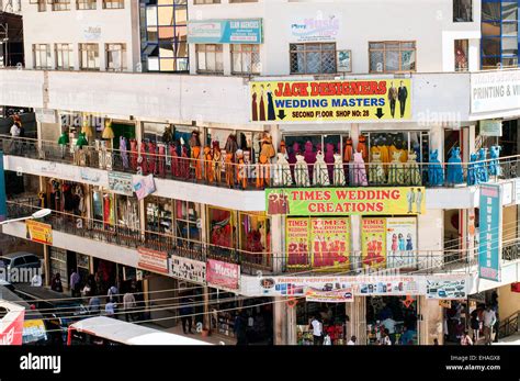
[[[74,45],[75,70],[79,70],[80,43],[97,43],[100,49],[100,69],[104,70],[105,44],[126,44],[126,71],[134,71],[139,58],[139,19],[138,1],[125,0],[124,9],[103,9],[102,0],[97,0],[95,10],[77,10],[76,0],[70,0],[69,11],[52,11],[47,4],[45,12],[38,12],[38,5],[23,1],[23,37],[25,68],[34,68],[33,44],[50,44],[53,67],[56,67],[54,44]],[[92,38],[84,29],[101,27],[99,37]]]

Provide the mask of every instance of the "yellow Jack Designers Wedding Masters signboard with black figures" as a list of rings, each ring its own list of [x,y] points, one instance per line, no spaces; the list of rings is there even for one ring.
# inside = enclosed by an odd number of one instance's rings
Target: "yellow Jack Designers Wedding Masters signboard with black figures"
[[[251,81],[249,96],[251,122],[411,119],[411,79]]]

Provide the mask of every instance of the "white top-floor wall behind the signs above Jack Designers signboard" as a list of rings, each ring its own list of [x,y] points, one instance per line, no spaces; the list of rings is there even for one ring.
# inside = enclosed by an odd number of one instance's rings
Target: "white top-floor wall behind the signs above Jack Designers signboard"
[[[473,22],[454,23],[452,1],[446,0],[259,0],[255,3],[193,4],[190,20],[263,19],[262,75],[289,75],[289,44],[295,42],[291,24],[305,18],[340,19],[337,49],[351,49],[354,74],[369,72],[369,42],[416,41],[417,71],[453,71],[454,40],[481,37],[481,5],[473,2]],[[195,47],[190,46],[194,57]],[[470,52],[470,65],[478,51]],[[192,66],[195,64],[192,59]],[[193,69],[193,68],[192,68]],[[225,67],[225,72],[229,69]]]

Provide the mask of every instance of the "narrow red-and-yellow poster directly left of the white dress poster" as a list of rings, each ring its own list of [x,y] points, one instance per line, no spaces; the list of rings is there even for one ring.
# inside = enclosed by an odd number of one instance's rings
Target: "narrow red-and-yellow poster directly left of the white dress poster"
[[[386,267],[386,218],[361,220],[361,261],[363,268]]]

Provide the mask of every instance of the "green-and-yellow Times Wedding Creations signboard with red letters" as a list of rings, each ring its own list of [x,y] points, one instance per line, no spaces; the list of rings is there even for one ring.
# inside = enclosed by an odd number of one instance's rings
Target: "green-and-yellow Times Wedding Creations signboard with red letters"
[[[426,212],[425,193],[423,187],[270,188],[265,210],[293,216],[417,215]]]

